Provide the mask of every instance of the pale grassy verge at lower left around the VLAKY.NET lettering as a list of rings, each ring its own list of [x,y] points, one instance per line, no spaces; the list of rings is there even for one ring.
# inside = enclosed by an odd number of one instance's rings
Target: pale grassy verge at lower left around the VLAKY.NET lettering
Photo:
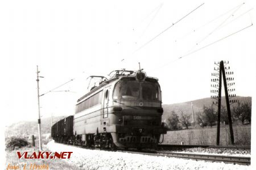
[[[43,142],[42,142],[43,143]],[[38,147],[22,147],[13,151],[6,151],[6,169],[8,165],[10,166],[19,166],[19,169],[23,169],[26,164],[26,168],[32,164],[36,165],[48,165],[49,169],[80,169],[75,165],[68,164],[65,160],[61,159],[19,159],[17,151],[24,152],[28,151],[28,155],[31,155],[32,152],[38,152]],[[43,151],[48,151],[47,148],[43,147]]]

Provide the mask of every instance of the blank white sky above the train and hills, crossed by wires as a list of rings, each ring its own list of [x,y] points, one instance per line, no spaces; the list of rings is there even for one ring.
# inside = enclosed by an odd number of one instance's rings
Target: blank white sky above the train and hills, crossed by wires
[[[163,104],[210,97],[221,60],[236,95],[255,91],[253,1],[6,1],[0,19],[5,125],[37,120],[37,65],[40,94],[74,79],[40,97],[42,118],[75,113],[88,76],[138,62],[159,79]]]

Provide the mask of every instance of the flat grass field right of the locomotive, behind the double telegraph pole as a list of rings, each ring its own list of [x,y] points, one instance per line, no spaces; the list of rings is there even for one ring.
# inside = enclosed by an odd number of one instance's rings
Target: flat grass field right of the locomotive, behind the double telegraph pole
[[[233,125],[234,143],[239,146],[251,145],[251,126]],[[164,135],[163,144],[179,145],[216,145],[217,126],[205,128],[193,128],[187,130],[168,131]],[[229,125],[221,125],[220,145],[229,146],[230,134]]]

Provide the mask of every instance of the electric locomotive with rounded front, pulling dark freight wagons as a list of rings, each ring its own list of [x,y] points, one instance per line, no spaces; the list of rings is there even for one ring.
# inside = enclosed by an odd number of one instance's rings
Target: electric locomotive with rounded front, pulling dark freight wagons
[[[142,70],[115,70],[112,75],[110,79],[90,76],[101,78],[101,82],[77,100],[72,117],[73,134],[58,137],[54,133],[53,139],[64,138],[63,143],[104,148],[158,145],[160,135],[166,134],[161,122],[162,92],[158,79]]]

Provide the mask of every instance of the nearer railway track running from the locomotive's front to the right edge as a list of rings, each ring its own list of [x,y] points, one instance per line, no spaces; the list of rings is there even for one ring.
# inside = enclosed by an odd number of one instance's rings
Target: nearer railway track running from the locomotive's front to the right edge
[[[250,157],[245,156],[224,156],[224,155],[203,155],[203,154],[191,154],[191,153],[177,153],[166,151],[122,151],[132,154],[143,154],[152,156],[167,156],[174,158],[193,159],[193,160],[205,160],[209,162],[224,162],[232,164],[250,165]]]

